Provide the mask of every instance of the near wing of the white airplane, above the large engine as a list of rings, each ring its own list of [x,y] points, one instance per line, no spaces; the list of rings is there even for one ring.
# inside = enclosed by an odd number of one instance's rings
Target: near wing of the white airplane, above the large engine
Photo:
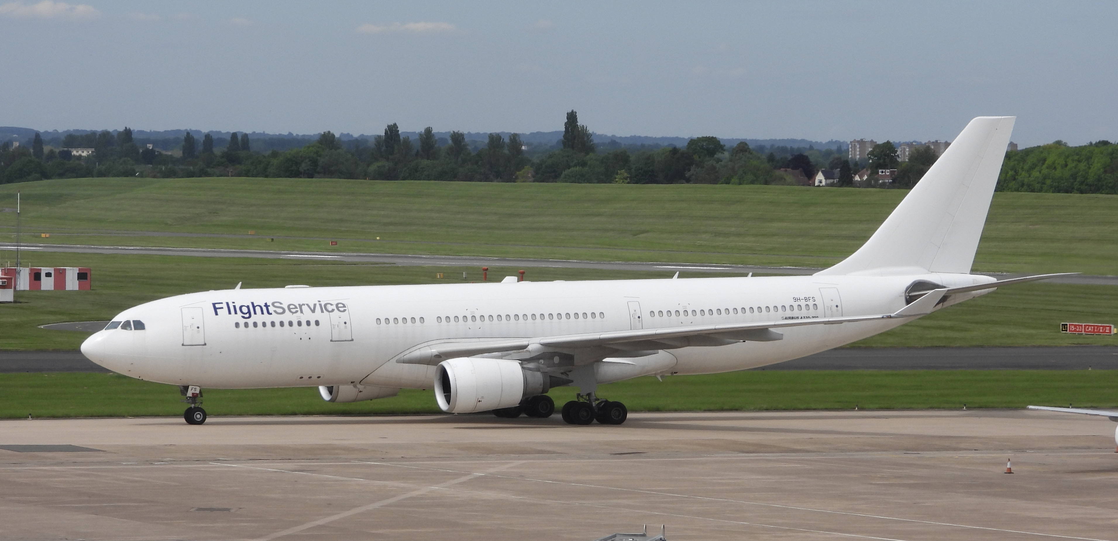
[[[774,329],[804,325],[835,325],[859,321],[877,321],[897,317],[919,317],[931,313],[936,303],[947,293],[947,288],[934,290],[911,304],[892,314],[859,315],[851,317],[816,317],[809,320],[778,320],[760,323],[737,323],[723,325],[692,325],[662,329],[636,329],[598,333],[566,334],[525,339],[504,339],[490,342],[443,342],[424,345],[400,355],[396,362],[405,364],[438,364],[456,357],[487,353],[537,354],[556,350],[582,350],[606,348],[614,354],[600,357],[642,357],[659,350],[690,347],[726,345],[736,342],[769,342],[784,338]],[[530,355],[529,355],[530,357]]]

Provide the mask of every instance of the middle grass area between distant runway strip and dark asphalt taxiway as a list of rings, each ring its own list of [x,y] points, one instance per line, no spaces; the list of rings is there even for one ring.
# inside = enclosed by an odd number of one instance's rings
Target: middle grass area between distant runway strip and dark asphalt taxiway
[[[30,253],[31,265],[88,266],[93,291],[19,292],[19,303],[0,305],[0,350],[75,350],[86,333],[49,331],[38,325],[64,321],[108,320],[148,301],[244,282],[246,288],[461,283],[462,272],[480,281],[476,267],[402,267],[341,262],[208,258],[184,256]],[[515,268],[493,267],[500,279]],[[447,278],[438,279],[436,273]],[[619,279],[671,276],[669,272],[618,272],[585,268],[531,268],[528,279]],[[683,274],[703,277],[708,274]],[[1111,322],[1118,287],[1102,285],[1022,284],[942,310],[856,347],[1076,345],[1115,344],[1115,336],[1062,334],[1067,321]]]

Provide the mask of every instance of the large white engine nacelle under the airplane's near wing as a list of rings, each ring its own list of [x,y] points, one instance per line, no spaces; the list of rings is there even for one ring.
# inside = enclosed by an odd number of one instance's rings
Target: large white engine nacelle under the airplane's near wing
[[[570,381],[524,370],[505,359],[447,359],[435,370],[435,399],[448,414],[511,408],[524,397],[546,393],[552,379],[559,385]]]

